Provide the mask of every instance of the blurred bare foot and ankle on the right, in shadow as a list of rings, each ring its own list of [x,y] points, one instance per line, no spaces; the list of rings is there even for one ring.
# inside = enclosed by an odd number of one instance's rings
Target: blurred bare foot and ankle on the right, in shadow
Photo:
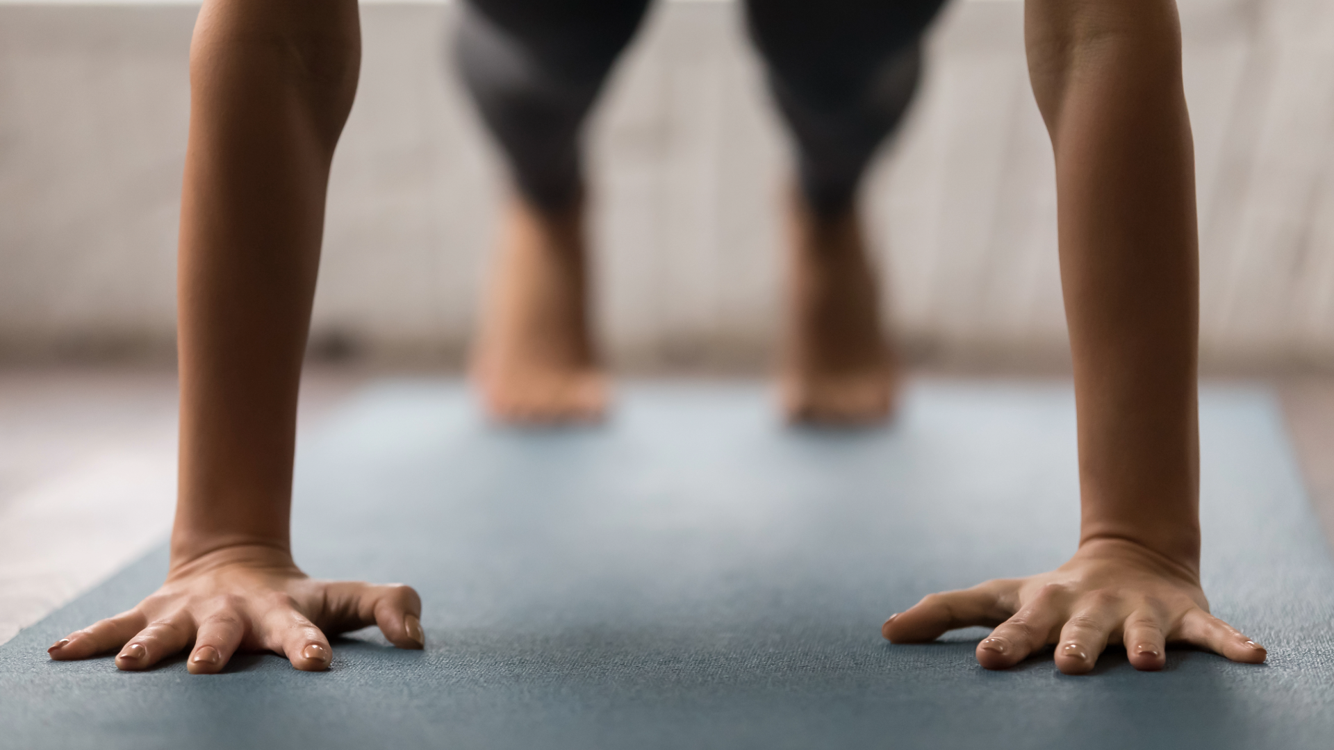
[[[780,375],[791,422],[866,424],[894,410],[896,370],[880,332],[875,278],[856,212],[788,223],[788,323]]]

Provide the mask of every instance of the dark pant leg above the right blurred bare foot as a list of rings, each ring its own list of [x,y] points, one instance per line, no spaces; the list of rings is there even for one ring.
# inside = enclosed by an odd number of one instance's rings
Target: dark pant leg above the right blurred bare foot
[[[875,148],[912,100],[922,32],[943,1],[747,0],[800,190],[818,212],[851,207]]]

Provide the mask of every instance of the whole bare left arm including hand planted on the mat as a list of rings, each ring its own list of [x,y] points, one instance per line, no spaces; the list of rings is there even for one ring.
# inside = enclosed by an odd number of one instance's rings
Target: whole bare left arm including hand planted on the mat
[[[296,395],[329,163],[356,92],[356,0],[205,0],[191,44],[179,268],[180,486],[163,587],[51,649],[137,670],[193,643],[327,669],[325,634],[420,649],[407,586],[307,578],[288,543]]]

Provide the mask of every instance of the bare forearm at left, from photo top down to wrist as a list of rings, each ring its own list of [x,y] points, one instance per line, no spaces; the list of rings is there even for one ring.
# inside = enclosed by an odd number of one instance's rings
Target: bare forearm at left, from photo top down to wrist
[[[209,0],[191,47],[172,560],[288,546],[296,395],[355,0]]]

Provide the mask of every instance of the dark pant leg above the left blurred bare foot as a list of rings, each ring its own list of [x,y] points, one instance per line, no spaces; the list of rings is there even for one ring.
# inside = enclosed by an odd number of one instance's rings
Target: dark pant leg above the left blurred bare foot
[[[583,192],[583,121],[648,0],[468,0],[455,53],[519,192],[560,211]]]

